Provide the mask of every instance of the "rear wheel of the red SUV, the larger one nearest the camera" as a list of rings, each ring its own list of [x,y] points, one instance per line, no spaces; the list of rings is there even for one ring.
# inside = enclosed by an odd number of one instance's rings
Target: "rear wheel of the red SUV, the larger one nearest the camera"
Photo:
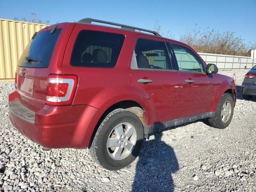
[[[144,139],[142,122],[124,109],[112,111],[99,125],[89,146],[92,158],[108,170],[131,164],[140,152]]]

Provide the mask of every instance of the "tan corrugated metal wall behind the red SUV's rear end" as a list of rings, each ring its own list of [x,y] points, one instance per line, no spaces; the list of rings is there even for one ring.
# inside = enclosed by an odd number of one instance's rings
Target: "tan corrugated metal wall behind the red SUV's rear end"
[[[33,34],[48,25],[0,18],[0,79],[15,78],[18,60]]]

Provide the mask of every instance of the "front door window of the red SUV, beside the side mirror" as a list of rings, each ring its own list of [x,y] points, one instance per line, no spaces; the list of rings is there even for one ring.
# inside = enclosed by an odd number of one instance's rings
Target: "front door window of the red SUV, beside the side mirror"
[[[191,50],[174,44],[172,48],[178,62],[179,70],[204,72],[202,61]]]

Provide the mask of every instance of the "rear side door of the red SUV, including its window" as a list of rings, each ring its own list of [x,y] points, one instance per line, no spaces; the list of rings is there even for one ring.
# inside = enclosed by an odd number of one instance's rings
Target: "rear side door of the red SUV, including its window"
[[[136,36],[129,70],[134,96],[148,107],[150,124],[180,117],[180,78],[166,42]]]

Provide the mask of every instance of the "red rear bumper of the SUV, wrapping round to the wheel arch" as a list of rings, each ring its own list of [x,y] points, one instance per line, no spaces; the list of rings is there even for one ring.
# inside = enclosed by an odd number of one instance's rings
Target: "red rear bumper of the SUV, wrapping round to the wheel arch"
[[[87,148],[102,114],[102,110],[87,105],[45,105],[35,112],[32,123],[17,114],[9,101],[9,115],[14,127],[46,148]]]

